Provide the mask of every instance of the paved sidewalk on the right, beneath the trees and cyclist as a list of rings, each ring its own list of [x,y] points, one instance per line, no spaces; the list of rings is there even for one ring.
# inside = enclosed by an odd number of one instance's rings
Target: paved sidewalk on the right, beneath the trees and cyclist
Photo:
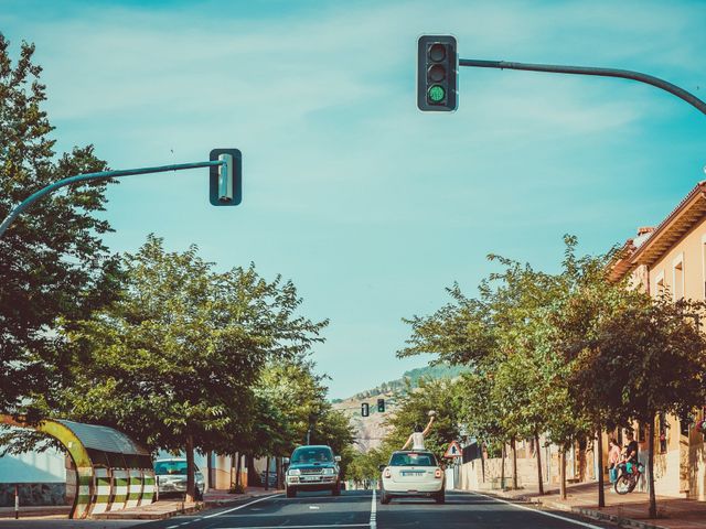
[[[539,496],[537,490],[493,490],[485,493],[503,498],[530,501],[546,509],[576,512],[596,520],[606,520],[620,527],[639,529],[706,529],[706,501],[657,496],[657,519],[649,518],[650,498],[646,493],[620,496],[606,488],[606,507],[598,508],[598,484],[581,483],[567,486],[567,499],[559,498],[558,488]]]

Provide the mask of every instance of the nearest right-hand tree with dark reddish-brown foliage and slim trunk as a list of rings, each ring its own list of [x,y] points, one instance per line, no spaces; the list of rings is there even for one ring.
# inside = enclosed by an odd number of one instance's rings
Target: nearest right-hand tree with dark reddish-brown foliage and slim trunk
[[[593,361],[610,358],[619,366],[611,375],[623,382],[625,413],[650,425],[650,517],[656,518],[654,422],[659,413],[686,418],[706,399],[706,337],[699,326],[706,305],[646,294],[634,298],[634,303],[600,322],[595,349],[599,358]]]

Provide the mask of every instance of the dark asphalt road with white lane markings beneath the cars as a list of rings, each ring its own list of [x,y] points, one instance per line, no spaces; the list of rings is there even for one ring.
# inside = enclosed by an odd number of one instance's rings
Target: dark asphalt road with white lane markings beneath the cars
[[[234,507],[213,509],[136,526],[139,529],[603,529],[613,526],[587,522],[564,512],[538,511],[524,505],[477,494],[447,493],[447,503],[397,499],[381,505],[373,493],[304,493],[259,498]]]

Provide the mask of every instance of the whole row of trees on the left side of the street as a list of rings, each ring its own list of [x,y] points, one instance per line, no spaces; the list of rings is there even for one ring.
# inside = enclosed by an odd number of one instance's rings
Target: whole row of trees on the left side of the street
[[[103,171],[92,147],[56,156],[45,88],[0,34],[0,218],[62,177]],[[113,425],[152,450],[286,455],[307,436],[342,452],[347,419],[308,359],[328,321],[252,264],[217,271],[149,236],[113,255],[106,183],[35,205],[0,239],[0,412]],[[9,441],[7,435],[2,441]],[[25,450],[32,436],[13,438]]]

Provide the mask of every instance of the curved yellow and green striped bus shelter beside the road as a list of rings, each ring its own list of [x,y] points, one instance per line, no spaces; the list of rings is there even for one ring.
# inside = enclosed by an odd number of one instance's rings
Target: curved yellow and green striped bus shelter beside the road
[[[45,433],[68,453],[76,478],[71,518],[87,518],[154,501],[151,454],[125,433],[61,419],[26,424],[2,415],[2,422]]]

